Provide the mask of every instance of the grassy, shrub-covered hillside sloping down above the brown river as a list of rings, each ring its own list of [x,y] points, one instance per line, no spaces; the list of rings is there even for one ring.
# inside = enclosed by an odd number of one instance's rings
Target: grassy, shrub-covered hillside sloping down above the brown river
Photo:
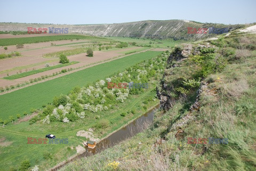
[[[211,41],[217,45],[214,52],[203,48],[200,54],[173,61],[174,67],[167,64],[160,86],[171,88],[166,94],[172,105],[156,113],[150,129],[60,170],[255,170],[256,52],[249,50],[253,42],[255,35],[223,37]],[[211,61],[213,54],[226,62],[202,63],[206,56]],[[179,87],[183,91],[177,91]],[[188,137],[207,142],[188,144]],[[209,137],[228,143],[211,144]]]

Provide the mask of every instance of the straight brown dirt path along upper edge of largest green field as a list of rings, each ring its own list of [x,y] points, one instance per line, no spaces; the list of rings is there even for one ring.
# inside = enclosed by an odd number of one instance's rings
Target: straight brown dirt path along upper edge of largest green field
[[[146,52],[146,51],[152,51],[152,50],[154,50],[154,48],[150,48],[150,49],[147,49],[147,50],[144,50],[144,51],[140,51],[140,52],[137,52],[137,53]],[[154,50],[154,51],[155,51],[155,50]],[[133,54],[137,54],[137,53],[133,53]],[[132,54],[129,54],[129,55],[132,55]],[[105,62],[113,61],[113,60],[116,60],[116,59],[124,58],[125,56],[129,56],[129,55],[115,56],[115,57],[113,57],[113,58],[109,58],[109,59],[106,60],[106,61],[102,61],[102,60],[101,60],[101,61],[99,61],[99,62],[97,62],[97,63],[92,63],[92,64],[89,64],[88,66],[85,65],[85,66],[82,66],[82,67],[80,67],[80,68],[76,68],[76,69],[74,69],[74,70],[72,70],[72,71],[66,72],[66,73],[64,73],[64,74],[60,74],[60,75],[55,76],[55,77],[50,77],[50,78],[47,78],[47,79],[38,81],[38,82],[36,82],[36,83],[28,84],[28,85],[23,86],[23,87],[19,87],[19,88],[12,89],[11,91],[7,91],[7,92],[0,93],[0,95],[6,94],[6,93],[10,93],[10,92],[14,92],[14,91],[17,91],[18,89],[25,88],[25,87],[28,87],[28,86],[31,86],[31,85],[35,85],[35,84],[38,84],[38,83],[43,83],[43,82],[46,82],[46,81],[48,81],[48,80],[52,80],[52,79],[55,79],[55,78],[58,78],[58,77],[62,77],[62,76],[71,74],[71,73],[73,73],[73,72],[77,72],[77,71],[86,69],[86,68],[90,68],[90,67],[93,67],[93,66],[97,66],[98,64],[101,64],[101,63],[105,63]],[[94,58],[94,57],[93,57],[93,58]],[[72,66],[68,66],[67,68],[70,68],[70,67],[73,68],[73,65],[72,65]],[[63,67],[63,68],[64,68],[64,67]],[[62,69],[62,68],[61,68],[61,69]],[[61,70],[61,69],[60,69],[60,70]],[[41,73],[44,73],[44,72],[41,72]],[[53,71],[51,70],[51,74],[52,74],[52,73],[53,73]],[[38,74],[40,74],[40,73],[38,73]],[[33,76],[34,76],[34,75],[33,75]],[[29,77],[29,76],[28,76],[28,77]],[[23,78],[26,78],[26,77],[23,77]],[[20,78],[20,79],[21,79],[21,78]],[[3,80],[3,79],[0,79],[0,81],[2,81],[2,80]],[[19,80],[19,79],[15,79],[15,80],[13,80],[12,83],[15,83],[15,82],[17,83],[18,80]],[[8,80],[8,81],[10,81],[10,80]],[[24,82],[24,81],[23,81],[23,82]],[[1,84],[1,82],[0,82],[0,84]],[[16,85],[16,84],[11,84],[11,85]],[[0,85],[0,86],[1,86],[1,85]],[[9,85],[9,86],[10,86],[10,85]]]

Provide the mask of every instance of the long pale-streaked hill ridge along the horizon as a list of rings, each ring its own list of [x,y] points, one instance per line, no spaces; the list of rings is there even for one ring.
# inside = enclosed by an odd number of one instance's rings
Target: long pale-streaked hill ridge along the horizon
[[[118,36],[135,38],[158,39],[200,39],[215,36],[214,34],[187,34],[187,27],[193,28],[228,28],[229,31],[243,28],[244,25],[223,25],[214,23],[200,23],[188,20],[164,20],[164,21],[137,21],[100,25],[51,25],[30,23],[0,23],[0,31],[27,31],[27,27],[33,28],[68,28],[69,33],[80,33],[93,36]]]

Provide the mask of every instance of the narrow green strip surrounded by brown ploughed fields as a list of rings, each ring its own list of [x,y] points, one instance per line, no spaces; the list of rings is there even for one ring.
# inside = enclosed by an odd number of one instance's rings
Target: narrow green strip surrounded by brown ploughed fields
[[[33,75],[33,74],[37,74],[39,72],[44,72],[44,71],[48,71],[48,70],[52,70],[52,69],[56,69],[56,68],[70,66],[70,65],[76,64],[76,63],[79,63],[79,62],[73,61],[73,62],[70,62],[70,63],[58,64],[58,65],[52,66],[52,67],[46,67],[46,68],[41,68],[41,69],[32,70],[32,71],[28,71],[28,72],[22,72],[20,74],[15,74],[15,75],[12,75],[12,76],[4,77],[4,79],[22,78],[22,77],[30,76],[30,75]]]

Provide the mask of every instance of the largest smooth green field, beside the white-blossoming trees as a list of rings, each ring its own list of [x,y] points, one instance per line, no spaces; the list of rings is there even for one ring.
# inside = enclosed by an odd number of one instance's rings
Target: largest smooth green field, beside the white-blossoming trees
[[[99,64],[72,74],[62,76],[44,83],[39,83],[0,96],[2,119],[29,112],[31,108],[41,108],[52,101],[56,95],[67,94],[75,86],[84,86],[98,79],[106,78],[133,66],[143,60],[151,59],[161,52],[147,51],[129,55],[121,59]],[[22,102],[22,103],[21,103]]]

